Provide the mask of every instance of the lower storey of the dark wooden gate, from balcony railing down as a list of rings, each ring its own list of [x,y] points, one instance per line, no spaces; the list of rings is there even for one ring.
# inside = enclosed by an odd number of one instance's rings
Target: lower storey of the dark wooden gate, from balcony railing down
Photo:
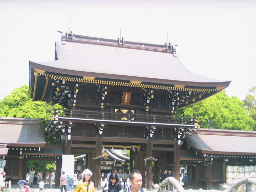
[[[72,118],[67,116],[71,111]],[[78,115],[79,117],[77,117]],[[101,166],[106,166],[106,164],[101,163],[102,147],[130,150],[130,170],[140,170],[143,178],[145,178],[146,172],[146,187],[148,189],[152,188],[153,174],[155,175],[155,180],[158,181],[159,170],[165,170],[167,164],[170,166],[168,167],[169,169],[174,170],[174,177],[179,180],[179,144],[175,140],[170,140],[170,138],[174,137],[172,132],[176,134],[176,131],[172,129],[174,126],[187,126],[188,128],[183,128],[185,131],[194,129],[194,124],[182,124],[186,122],[184,121],[186,118],[179,120],[172,116],[167,118],[162,118],[161,116],[160,124],[162,127],[157,129],[159,125],[157,116],[146,115],[147,120],[153,119],[153,122],[142,122],[143,115],[139,116],[139,120],[135,120],[135,116],[127,115],[127,118],[133,119],[130,121],[125,119],[118,120],[119,116],[125,117],[123,114],[118,113],[111,115],[103,112],[83,111],[82,116],[78,110],[56,109],[54,120],[58,121],[58,123],[61,122],[62,126],[72,127],[70,139],[65,137],[65,141],[63,141],[65,155],[87,154],[86,168],[92,170],[92,179],[95,181],[96,188],[100,188]],[[94,118],[91,116],[94,116]],[[104,117],[102,118],[102,116]],[[163,123],[164,120],[166,120],[166,123]],[[176,123],[173,123],[174,120]],[[113,136],[111,137],[111,135]],[[154,135],[156,139],[153,138]],[[183,137],[183,135],[181,131],[180,136]],[[168,140],[158,139],[165,137]],[[158,167],[160,166],[160,168],[155,166],[155,173],[152,170],[152,161],[157,161],[156,164],[158,164]],[[112,166],[113,171],[115,171],[114,164],[108,166]],[[145,184],[144,182],[145,180],[143,180],[143,184]]]

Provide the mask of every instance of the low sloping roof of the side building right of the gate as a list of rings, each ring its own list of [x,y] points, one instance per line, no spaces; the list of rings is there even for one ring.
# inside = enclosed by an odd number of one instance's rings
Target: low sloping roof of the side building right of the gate
[[[207,154],[256,155],[256,133],[198,129],[186,140],[196,151]]]

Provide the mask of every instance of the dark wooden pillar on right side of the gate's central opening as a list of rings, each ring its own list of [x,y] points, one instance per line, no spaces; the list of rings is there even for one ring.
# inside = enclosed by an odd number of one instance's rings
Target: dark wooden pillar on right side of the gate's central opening
[[[153,142],[152,142],[152,138],[150,138],[146,144],[146,157],[147,158],[152,157],[152,150],[153,150]],[[146,162],[146,189],[147,190],[152,189],[152,177],[153,177],[152,160],[149,160]]]

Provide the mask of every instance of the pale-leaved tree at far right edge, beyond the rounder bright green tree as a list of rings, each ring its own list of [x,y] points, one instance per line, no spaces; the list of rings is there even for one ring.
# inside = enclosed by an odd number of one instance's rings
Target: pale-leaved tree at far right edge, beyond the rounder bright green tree
[[[243,100],[245,108],[249,112],[249,116],[254,120],[253,131],[256,131],[256,87],[249,89],[249,94]]]

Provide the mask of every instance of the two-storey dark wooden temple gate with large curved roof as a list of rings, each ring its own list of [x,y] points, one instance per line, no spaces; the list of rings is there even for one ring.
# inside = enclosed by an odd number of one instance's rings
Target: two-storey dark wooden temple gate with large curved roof
[[[32,100],[63,106],[54,110],[49,133],[62,140],[66,155],[88,154],[96,188],[104,145],[140,145],[128,148],[131,169],[139,169],[143,177],[146,170],[147,189],[152,188],[152,161],[158,165],[155,172],[169,166],[179,180],[179,145],[198,124],[196,118],[175,117],[176,110],[230,83],[191,73],[168,43],[72,32],[62,33],[56,42],[55,60],[29,65]]]

